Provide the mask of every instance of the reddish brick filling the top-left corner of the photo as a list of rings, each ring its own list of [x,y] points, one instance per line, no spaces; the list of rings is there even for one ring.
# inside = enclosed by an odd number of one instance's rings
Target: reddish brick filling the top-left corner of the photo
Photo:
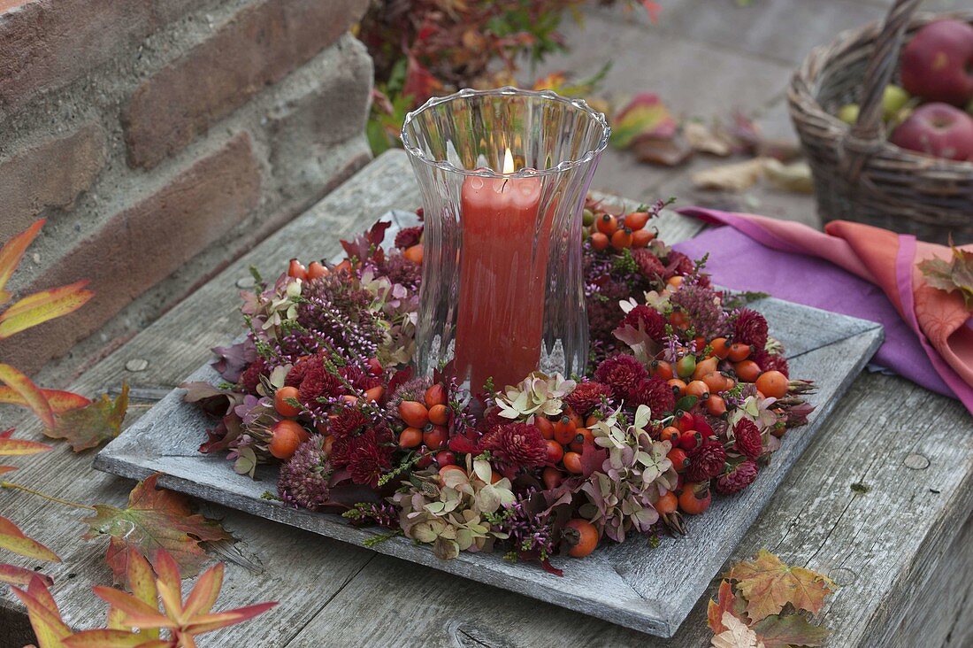
[[[0,107],[16,109],[134,49],[189,6],[186,0],[0,0]]]

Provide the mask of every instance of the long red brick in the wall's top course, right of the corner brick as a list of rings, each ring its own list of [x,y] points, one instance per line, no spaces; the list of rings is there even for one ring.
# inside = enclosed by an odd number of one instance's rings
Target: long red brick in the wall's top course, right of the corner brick
[[[368,0],[263,0],[146,80],[122,120],[128,162],[150,169],[361,18]]]

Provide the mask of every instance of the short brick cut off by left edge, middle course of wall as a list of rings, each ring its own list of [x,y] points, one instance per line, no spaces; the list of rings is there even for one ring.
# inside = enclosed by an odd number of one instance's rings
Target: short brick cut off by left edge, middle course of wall
[[[105,133],[87,124],[52,136],[0,161],[0,243],[42,211],[70,208],[105,165]]]

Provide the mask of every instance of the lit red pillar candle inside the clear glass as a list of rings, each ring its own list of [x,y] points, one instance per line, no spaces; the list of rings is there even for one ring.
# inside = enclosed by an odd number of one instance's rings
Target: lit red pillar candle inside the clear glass
[[[463,180],[455,356],[474,392],[489,377],[517,384],[540,362],[551,230],[540,203],[538,177]]]

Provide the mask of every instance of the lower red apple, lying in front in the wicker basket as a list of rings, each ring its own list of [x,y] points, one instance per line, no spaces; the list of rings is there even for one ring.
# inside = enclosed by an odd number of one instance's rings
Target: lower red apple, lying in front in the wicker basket
[[[926,103],[892,132],[896,146],[949,160],[973,159],[973,117],[948,103]]]

